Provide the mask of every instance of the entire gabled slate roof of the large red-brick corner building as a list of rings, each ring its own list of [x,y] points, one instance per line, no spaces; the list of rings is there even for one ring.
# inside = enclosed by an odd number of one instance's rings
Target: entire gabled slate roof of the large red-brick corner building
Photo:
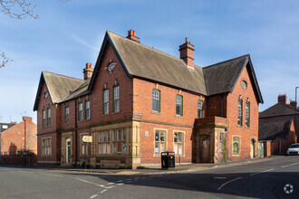
[[[240,74],[248,66],[257,101],[263,103],[249,54],[210,65],[206,68],[195,66],[194,69],[190,69],[183,60],[177,57],[107,31],[92,73],[92,79],[83,81],[43,71],[36,94],[34,110],[37,109],[43,82],[46,83],[53,103],[72,100],[91,92],[95,78],[100,71],[101,58],[107,43],[111,44],[129,77],[159,82],[206,96],[232,92]]]

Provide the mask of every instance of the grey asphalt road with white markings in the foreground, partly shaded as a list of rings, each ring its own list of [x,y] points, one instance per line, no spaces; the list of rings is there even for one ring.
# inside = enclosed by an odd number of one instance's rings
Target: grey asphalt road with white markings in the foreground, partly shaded
[[[0,198],[299,198],[299,156],[167,175],[0,166]]]

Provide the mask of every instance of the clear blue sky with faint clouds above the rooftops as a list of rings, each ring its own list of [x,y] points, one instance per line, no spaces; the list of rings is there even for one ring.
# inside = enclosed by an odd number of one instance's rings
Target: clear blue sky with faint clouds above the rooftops
[[[189,38],[199,66],[251,54],[267,109],[278,94],[294,100],[299,86],[299,2],[275,0],[58,0],[35,4],[39,18],[0,14],[0,52],[14,62],[0,68],[0,122],[36,122],[34,100],[41,71],[82,78],[96,62],[106,30],[179,56]],[[299,96],[298,96],[299,97]]]

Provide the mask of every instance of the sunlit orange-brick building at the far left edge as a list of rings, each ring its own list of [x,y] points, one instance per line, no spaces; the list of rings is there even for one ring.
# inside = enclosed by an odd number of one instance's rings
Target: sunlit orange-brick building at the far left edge
[[[1,155],[16,155],[18,150],[37,152],[37,126],[30,117],[1,133]]]

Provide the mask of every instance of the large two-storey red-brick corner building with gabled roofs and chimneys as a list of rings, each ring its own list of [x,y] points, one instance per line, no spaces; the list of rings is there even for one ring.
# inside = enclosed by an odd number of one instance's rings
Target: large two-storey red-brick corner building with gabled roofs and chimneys
[[[194,45],[180,58],[107,31],[84,79],[42,71],[34,102],[38,164],[92,167],[217,163],[257,155],[263,103],[250,55],[207,67]],[[83,136],[92,136],[85,150]]]

